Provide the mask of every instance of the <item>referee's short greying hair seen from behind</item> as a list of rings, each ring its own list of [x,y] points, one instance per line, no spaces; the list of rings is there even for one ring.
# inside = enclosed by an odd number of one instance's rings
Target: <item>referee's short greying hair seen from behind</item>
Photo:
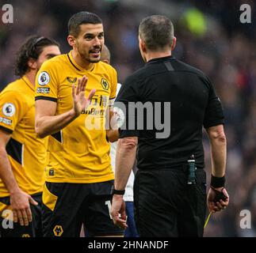
[[[152,15],[139,24],[139,37],[151,51],[158,51],[171,45],[174,39],[174,25],[168,17]]]

